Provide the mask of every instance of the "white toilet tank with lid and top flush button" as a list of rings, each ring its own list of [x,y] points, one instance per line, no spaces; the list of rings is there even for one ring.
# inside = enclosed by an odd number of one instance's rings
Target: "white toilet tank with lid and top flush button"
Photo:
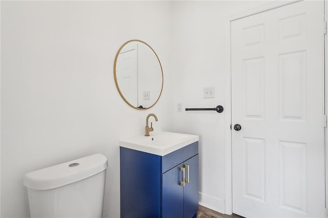
[[[27,173],[31,218],[100,218],[106,168],[107,158],[95,154]]]

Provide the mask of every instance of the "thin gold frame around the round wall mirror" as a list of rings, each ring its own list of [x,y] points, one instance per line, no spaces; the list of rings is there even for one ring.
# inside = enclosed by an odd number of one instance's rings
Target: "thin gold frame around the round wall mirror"
[[[161,71],[161,75],[162,75],[162,76],[161,76],[161,79],[162,79],[162,85],[161,85],[161,88],[160,88],[160,93],[159,93],[159,96],[158,96],[158,98],[156,99],[155,103],[153,103],[151,106],[149,106],[149,107],[147,107],[147,108],[140,108],[140,107],[136,107],[136,106],[132,105],[132,104],[131,104],[131,103],[130,103],[130,102],[124,97],[124,95],[122,94],[121,90],[119,89],[118,82],[117,82],[117,76],[116,76],[116,63],[117,63],[118,55],[119,55],[120,51],[122,50],[122,48],[124,48],[128,43],[130,43],[130,42],[132,42],[132,41],[138,41],[138,42],[144,43],[146,46],[148,46],[148,47],[154,52],[154,54],[155,54],[155,56],[156,56],[156,58],[157,58],[157,60],[158,60],[159,66],[160,66],[160,71]],[[118,51],[117,51],[117,53],[116,53],[116,56],[115,56],[115,60],[114,60],[114,80],[115,80],[116,89],[117,89],[119,95],[121,96],[121,98],[122,98],[122,99],[123,99],[128,105],[130,105],[131,107],[133,107],[133,108],[135,108],[135,109],[137,109],[137,110],[147,110],[147,109],[153,107],[153,106],[157,103],[157,101],[159,100],[159,98],[160,98],[160,96],[161,96],[161,94],[162,94],[162,91],[163,91],[163,83],[164,83],[164,76],[163,76],[162,64],[160,63],[160,60],[159,60],[159,58],[158,58],[156,52],[154,51],[154,49],[153,49],[150,45],[148,45],[148,43],[146,43],[145,41],[139,40],[139,39],[132,39],[132,40],[129,40],[129,41],[125,42],[125,43],[124,43],[124,44],[118,49]]]

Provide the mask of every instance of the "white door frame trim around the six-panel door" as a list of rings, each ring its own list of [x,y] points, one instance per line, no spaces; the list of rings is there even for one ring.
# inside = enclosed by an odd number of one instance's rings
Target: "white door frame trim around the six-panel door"
[[[226,136],[226,198],[224,201],[224,213],[226,214],[232,214],[232,130],[231,130],[231,124],[232,124],[232,115],[231,115],[231,22],[237,19],[241,19],[244,17],[248,17],[251,15],[255,15],[258,13],[262,13],[265,11],[269,11],[272,9],[276,9],[282,6],[294,4],[297,2],[301,2],[303,0],[291,0],[291,1],[276,1],[273,3],[265,4],[263,6],[253,8],[251,10],[243,11],[237,14],[233,14],[231,16],[224,18],[224,92],[226,93],[224,101],[226,102],[225,106],[225,121],[224,121],[224,127],[226,128],[225,136]],[[328,0],[322,0],[324,2],[324,21],[327,21],[328,15]],[[328,96],[328,90],[327,90],[327,67],[328,66],[328,40],[327,40],[327,34],[323,35],[322,37],[323,43],[324,43],[324,53],[322,54],[324,56],[323,64],[324,64],[324,113],[327,114],[327,99],[326,96]],[[327,138],[327,130],[325,128],[324,133],[325,139]],[[328,146],[326,143],[326,140],[323,140],[324,142],[324,161],[325,161],[325,207],[328,207],[327,203],[327,196],[328,196]],[[326,217],[327,217],[327,209],[326,209]]]

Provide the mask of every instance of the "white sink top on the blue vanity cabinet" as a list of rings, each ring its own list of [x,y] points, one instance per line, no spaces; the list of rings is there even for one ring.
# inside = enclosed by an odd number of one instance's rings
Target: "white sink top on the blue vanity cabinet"
[[[151,133],[150,136],[136,136],[120,140],[119,145],[154,155],[165,156],[196,141],[198,141],[198,136],[196,135],[155,132]]]

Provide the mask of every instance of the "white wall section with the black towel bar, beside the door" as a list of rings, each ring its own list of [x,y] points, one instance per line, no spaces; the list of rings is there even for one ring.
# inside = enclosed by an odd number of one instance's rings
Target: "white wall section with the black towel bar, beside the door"
[[[224,102],[224,19],[269,1],[179,1],[173,5],[173,130],[199,135],[200,204],[225,212],[225,113],[184,111]],[[214,87],[215,98],[203,98]],[[182,112],[176,104],[182,103]]]

